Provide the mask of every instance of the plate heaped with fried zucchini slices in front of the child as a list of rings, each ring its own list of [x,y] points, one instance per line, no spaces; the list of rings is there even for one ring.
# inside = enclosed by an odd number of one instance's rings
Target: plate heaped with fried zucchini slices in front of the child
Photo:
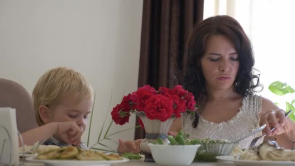
[[[96,150],[82,150],[72,146],[50,150],[39,154],[38,156],[27,157],[26,160],[30,162],[44,163],[49,166],[111,166],[114,163],[129,161],[129,159],[116,153],[103,153]]]

